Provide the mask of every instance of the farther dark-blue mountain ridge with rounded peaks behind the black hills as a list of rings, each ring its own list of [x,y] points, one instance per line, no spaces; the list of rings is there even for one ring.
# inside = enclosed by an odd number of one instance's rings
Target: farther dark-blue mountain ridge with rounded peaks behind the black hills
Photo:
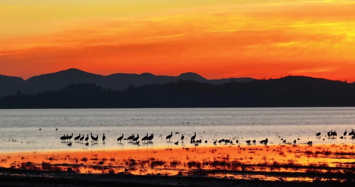
[[[3,78],[4,77],[4,78]],[[208,80],[196,73],[182,73],[177,77],[166,75],[153,75],[151,73],[125,74],[117,73],[108,76],[87,73],[79,69],[67,69],[56,73],[49,73],[23,80],[18,77],[0,76],[0,96],[15,95],[17,90],[22,93],[36,94],[47,90],[59,90],[68,84],[95,83],[104,88],[122,90],[129,85],[142,86],[149,84],[165,84],[182,80],[193,80],[200,83],[223,84],[234,80],[236,82],[248,82],[252,78],[230,78]]]

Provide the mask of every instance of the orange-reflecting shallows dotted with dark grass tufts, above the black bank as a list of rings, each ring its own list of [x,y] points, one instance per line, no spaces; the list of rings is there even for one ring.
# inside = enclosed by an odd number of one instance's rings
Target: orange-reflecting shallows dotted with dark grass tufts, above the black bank
[[[351,169],[354,159],[353,144],[218,145],[189,149],[177,146],[126,151],[10,153],[0,154],[0,166],[81,173],[124,172],[139,175],[206,175],[307,181],[312,180],[312,177],[303,174],[325,174],[330,170],[354,172]],[[278,173],[283,177],[277,177]]]

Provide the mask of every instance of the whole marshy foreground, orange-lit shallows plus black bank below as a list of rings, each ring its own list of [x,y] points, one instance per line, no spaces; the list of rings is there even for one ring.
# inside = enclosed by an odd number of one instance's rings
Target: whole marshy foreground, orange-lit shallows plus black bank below
[[[229,145],[0,154],[9,186],[349,185],[355,146]]]

